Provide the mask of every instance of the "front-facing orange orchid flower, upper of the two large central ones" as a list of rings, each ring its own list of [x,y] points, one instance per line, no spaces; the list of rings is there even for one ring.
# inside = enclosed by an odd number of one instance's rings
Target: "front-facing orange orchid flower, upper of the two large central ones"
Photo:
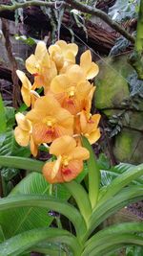
[[[91,91],[92,84],[84,80],[84,74],[79,65],[72,65],[66,74],[56,76],[51,81],[51,92],[60,105],[69,110],[72,115],[81,111],[85,104],[87,105],[85,99]]]

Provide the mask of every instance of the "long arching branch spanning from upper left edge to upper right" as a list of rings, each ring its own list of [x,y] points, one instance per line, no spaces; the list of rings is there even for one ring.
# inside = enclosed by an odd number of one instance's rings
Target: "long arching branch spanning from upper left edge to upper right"
[[[56,7],[55,7],[56,3]],[[49,8],[57,8],[58,5],[61,6],[61,1],[55,1],[55,2],[43,2],[38,0],[31,0],[25,3],[15,3],[11,6],[9,5],[0,5],[0,12],[2,11],[15,11],[18,8],[27,8],[30,6],[46,6]],[[63,4],[65,7],[71,7],[74,8],[80,12],[93,14],[102,20],[104,20],[108,25],[112,27],[113,30],[120,33],[124,37],[126,37],[128,40],[134,43],[134,37],[133,35],[129,34],[126,30],[124,30],[117,22],[113,21],[112,18],[106,14],[105,12],[102,12],[96,8],[92,8],[91,6],[87,6],[84,4],[79,3],[77,0],[65,0],[63,1]]]

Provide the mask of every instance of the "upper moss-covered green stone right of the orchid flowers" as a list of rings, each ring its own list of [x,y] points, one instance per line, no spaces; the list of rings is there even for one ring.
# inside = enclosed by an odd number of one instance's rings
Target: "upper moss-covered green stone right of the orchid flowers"
[[[128,98],[129,87],[126,77],[132,67],[126,58],[107,58],[99,63],[100,72],[95,82],[95,106],[99,109],[106,107],[120,107],[121,102]]]

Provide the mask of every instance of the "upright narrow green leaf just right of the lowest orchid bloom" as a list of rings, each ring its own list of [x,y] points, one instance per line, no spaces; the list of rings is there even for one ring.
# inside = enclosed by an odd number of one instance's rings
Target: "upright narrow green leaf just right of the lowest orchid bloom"
[[[100,172],[92,146],[86,137],[82,137],[82,144],[90,151],[90,159],[88,159],[87,163],[89,169],[89,198],[93,208],[96,205],[99,193]]]

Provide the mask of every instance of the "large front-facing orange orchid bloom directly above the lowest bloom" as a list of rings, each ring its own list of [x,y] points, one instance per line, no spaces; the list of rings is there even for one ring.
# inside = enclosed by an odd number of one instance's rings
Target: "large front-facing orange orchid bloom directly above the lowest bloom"
[[[51,143],[57,137],[73,133],[72,114],[62,108],[51,94],[37,99],[27,118],[32,122],[36,144]]]

